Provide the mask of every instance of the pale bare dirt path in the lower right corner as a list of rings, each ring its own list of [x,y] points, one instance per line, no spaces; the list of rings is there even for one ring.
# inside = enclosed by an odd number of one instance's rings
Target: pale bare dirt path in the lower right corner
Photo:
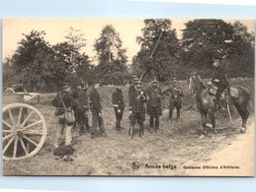
[[[254,175],[254,122],[249,119],[245,134],[239,134],[224,149],[213,153],[211,160],[188,161],[187,166],[201,166],[187,169],[186,175],[208,176],[253,176]],[[232,127],[238,127],[236,121]],[[231,128],[232,128],[231,127]],[[205,168],[204,168],[205,167]]]

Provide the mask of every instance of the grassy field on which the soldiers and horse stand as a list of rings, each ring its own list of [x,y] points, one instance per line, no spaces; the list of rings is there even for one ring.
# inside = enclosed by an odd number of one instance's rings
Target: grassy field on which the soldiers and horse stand
[[[231,80],[231,85],[242,85],[250,90],[254,96],[253,79]],[[211,160],[211,156],[230,145],[239,135],[241,120],[233,110],[236,118],[230,125],[226,112],[217,113],[216,127],[218,135],[210,133],[200,139],[202,130],[199,113],[187,109],[192,103],[192,96],[188,94],[188,83],[179,82],[184,90],[184,104],[179,121],[168,121],[168,100],[162,103],[163,115],[160,118],[160,130],[158,134],[151,134],[148,116],[145,120],[144,139],[135,134],[132,140],[128,140],[128,108],[122,121],[122,133],[114,130],[115,115],[111,104],[113,87],[102,87],[100,93],[103,102],[103,116],[105,119],[107,138],[98,137],[90,139],[90,134],[77,136],[74,130],[73,147],[75,153],[73,161],[55,160],[52,155],[52,143],[57,126],[54,117],[54,107],[50,100],[54,94],[43,95],[41,103],[36,107],[43,113],[47,124],[47,138],[41,152],[27,160],[9,160],[3,163],[5,175],[185,175],[185,170],[180,168],[187,161]],[[128,87],[124,87],[125,99],[128,100]],[[174,116],[176,116],[174,114]],[[89,114],[91,124],[91,114]],[[253,122],[251,117],[248,124]],[[136,126],[136,129],[138,127]],[[134,170],[131,163],[138,161],[140,168]],[[173,164],[177,169],[145,168],[146,164]]]

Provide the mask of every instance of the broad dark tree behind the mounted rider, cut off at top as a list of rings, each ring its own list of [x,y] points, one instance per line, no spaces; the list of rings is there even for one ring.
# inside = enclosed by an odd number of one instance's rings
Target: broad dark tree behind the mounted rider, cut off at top
[[[182,60],[197,69],[208,69],[214,59],[229,53],[232,26],[222,20],[194,20],[188,22],[181,41]]]

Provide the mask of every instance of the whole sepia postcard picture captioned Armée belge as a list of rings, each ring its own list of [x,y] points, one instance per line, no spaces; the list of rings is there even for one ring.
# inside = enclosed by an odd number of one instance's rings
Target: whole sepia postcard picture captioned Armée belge
[[[254,30],[3,20],[3,175],[254,176]]]

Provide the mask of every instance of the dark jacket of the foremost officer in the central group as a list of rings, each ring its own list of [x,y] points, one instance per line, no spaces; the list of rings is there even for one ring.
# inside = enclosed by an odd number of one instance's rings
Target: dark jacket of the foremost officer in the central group
[[[146,102],[146,94],[143,90],[131,90],[128,97],[129,110],[132,112],[145,112],[144,103]]]

